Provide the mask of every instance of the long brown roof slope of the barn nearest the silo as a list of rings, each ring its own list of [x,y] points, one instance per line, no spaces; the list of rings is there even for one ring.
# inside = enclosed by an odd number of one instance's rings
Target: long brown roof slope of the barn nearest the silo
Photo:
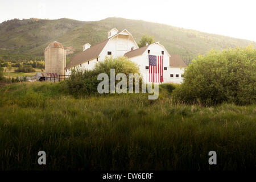
[[[75,65],[84,63],[84,61],[92,60],[92,59],[95,59],[96,57],[98,57],[100,55],[102,49],[109,42],[109,39],[106,39],[103,42],[100,42],[100,43],[86,49],[85,51],[78,53],[76,56],[72,57],[65,69],[72,68]]]

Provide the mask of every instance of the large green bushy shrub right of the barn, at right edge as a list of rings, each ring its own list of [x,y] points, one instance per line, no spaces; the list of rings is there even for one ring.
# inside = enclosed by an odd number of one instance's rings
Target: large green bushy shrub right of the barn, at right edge
[[[213,50],[192,61],[173,98],[188,104],[252,104],[256,100],[255,73],[256,49],[252,46]]]

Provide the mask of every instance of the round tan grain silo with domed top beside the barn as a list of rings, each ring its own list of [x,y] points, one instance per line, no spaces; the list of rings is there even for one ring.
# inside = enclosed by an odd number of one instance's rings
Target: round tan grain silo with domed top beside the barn
[[[59,42],[50,43],[44,50],[45,69],[47,73],[64,75],[66,67],[65,49]]]

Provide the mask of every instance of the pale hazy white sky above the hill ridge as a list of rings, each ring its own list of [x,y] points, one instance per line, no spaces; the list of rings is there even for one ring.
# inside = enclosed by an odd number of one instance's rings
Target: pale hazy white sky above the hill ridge
[[[0,22],[14,18],[88,21],[116,16],[256,41],[256,0],[9,0],[0,5]]]

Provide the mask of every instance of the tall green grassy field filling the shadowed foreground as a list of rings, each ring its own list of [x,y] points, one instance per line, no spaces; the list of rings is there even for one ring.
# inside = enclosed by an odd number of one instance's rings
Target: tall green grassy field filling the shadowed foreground
[[[255,105],[173,104],[143,94],[73,98],[60,84],[0,88],[0,169],[255,168]],[[38,165],[38,151],[47,164]],[[217,152],[210,166],[208,152]]]

